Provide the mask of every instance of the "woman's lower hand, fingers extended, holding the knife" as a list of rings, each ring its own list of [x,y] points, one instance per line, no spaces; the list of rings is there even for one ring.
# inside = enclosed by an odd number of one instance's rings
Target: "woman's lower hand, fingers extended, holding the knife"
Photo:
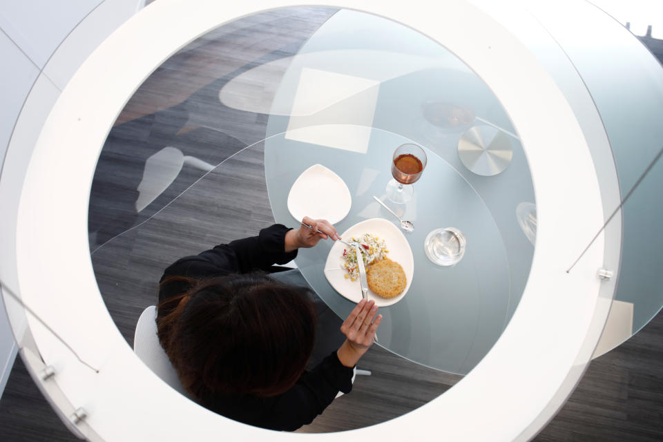
[[[340,326],[340,331],[345,334],[346,339],[336,355],[345,367],[354,367],[373,344],[375,332],[382,322],[382,315],[378,315],[373,320],[377,311],[378,306],[374,300],[363,299]]]

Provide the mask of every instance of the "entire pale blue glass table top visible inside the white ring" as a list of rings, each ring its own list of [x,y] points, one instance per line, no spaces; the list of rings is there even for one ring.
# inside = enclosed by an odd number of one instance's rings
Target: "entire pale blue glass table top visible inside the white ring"
[[[348,26],[361,32],[345,32]],[[427,37],[340,10],[292,57],[274,92],[266,135],[265,178],[277,222],[300,221],[287,199],[295,180],[314,164],[336,173],[349,189],[352,206],[336,224],[339,232],[371,218],[398,225],[374,196],[414,222],[414,232],[405,233],[414,256],[412,286],[402,300],[381,309],[379,343],[423,365],[468,373],[517,307],[536,223],[519,137],[486,84]],[[385,185],[392,178],[392,153],[405,143],[423,146],[428,163],[413,184],[414,198],[394,204]],[[335,195],[318,198],[333,201]],[[434,265],[424,252],[428,233],[446,227],[467,240],[454,267]],[[345,317],[353,303],[323,273],[330,248],[302,250],[296,264]]]

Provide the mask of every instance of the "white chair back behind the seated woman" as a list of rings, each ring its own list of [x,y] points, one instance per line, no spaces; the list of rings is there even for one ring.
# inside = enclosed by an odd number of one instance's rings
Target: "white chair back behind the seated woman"
[[[143,310],[136,325],[136,334],[133,338],[133,352],[162,381],[184,394],[184,396],[189,396],[186,390],[184,390],[184,387],[182,387],[182,383],[177,378],[177,373],[173,365],[171,365],[171,361],[159,343],[156,318],[157,307],[155,305],[151,305]]]

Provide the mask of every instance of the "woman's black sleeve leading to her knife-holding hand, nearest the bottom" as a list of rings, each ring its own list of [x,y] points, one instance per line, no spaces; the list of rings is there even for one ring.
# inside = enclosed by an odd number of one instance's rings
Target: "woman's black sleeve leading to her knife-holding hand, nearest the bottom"
[[[336,351],[329,354],[290,390],[282,394],[274,406],[267,427],[294,431],[307,425],[334,401],[338,392],[352,390],[354,370],[338,361]]]

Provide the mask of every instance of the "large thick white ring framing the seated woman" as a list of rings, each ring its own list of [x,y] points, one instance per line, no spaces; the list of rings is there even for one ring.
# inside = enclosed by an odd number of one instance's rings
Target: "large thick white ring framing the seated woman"
[[[443,13],[430,14],[424,13],[430,3],[421,0],[333,3],[392,17],[444,42],[486,81],[508,111],[528,155],[539,218],[537,251],[510,324],[463,381],[398,419],[352,432],[296,437],[401,440],[416,428],[442,440],[517,439],[560,387],[582,373],[577,367],[584,361],[576,361],[577,355],[596,325],[592,324],[597,320],[599,293],[596,269],[602,265],[603,236],[574,271],[566,273],[603,222],[599,186],[582,132],[535,57],[478,8],[453,2],[444,5]],[[29,321],[30,329],[44,361],[57,369],[54,381],[70,403],[86,407],[86,423],[106,441],[205,441],[220,434],[246,440],[295,437],[204,410],[165,387],[144,367],[120,336],[99,295],[86,236],[97,156],[137,85],[173,51],[219,23],[277,6],[296,3],[201,0],[192,8],[188,1],[160,0],[137,14],[104,41],[70,80],[44,125],[23,188],[13,189],[22,192],[16,232],[21,295],[99,373],[81,365],[35,321]],[[518,8],[510,12],[532,20]],[[144,38],[146,29],[159,38]],[[113,64],[108,64],[110,59]],[[550,121],[557,124],[554,132],[549,130]],[[70,173],[61,174],[64,170]],[[584,213],[582,220],[573,216],[579,212]],[[68,216],[54,216],[57,213]],[[75,290],[66,283],[72,280]],[[71,309],[72,305],[77,307]],[[599,325],[604,322],[605,318],[597,320]],[[186,425],[163,425],[169,421]]]

